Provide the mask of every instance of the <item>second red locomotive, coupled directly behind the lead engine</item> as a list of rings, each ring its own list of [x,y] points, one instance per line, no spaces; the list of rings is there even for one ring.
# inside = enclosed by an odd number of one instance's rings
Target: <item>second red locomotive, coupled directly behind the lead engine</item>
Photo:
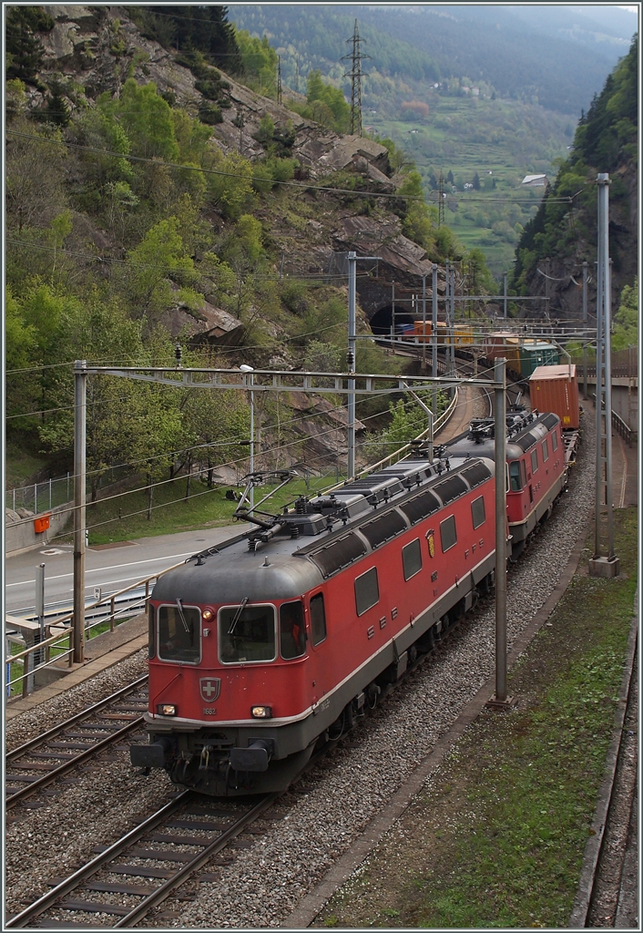
[[[451,456],[495,455],[493,418],[473,421],[468,432],[447,447]],[[552,513],[566,489],[567,467],[561,420],[556,414],[507,414],[507,519],[510,557],[516,560],[538,522]]]

